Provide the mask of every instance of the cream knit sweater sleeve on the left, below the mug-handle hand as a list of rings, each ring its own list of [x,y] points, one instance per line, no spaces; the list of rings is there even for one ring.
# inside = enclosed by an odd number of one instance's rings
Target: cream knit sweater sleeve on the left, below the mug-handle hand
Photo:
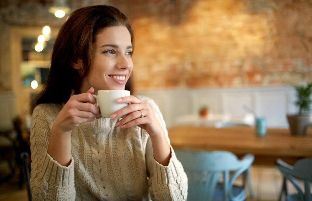
[[[71,157],[71,163],[66,167],[58,164],[47,153],[51,127],[59,111],[58,105],[41,104],[32,114],[32,200],[75,200],[73,158]]]

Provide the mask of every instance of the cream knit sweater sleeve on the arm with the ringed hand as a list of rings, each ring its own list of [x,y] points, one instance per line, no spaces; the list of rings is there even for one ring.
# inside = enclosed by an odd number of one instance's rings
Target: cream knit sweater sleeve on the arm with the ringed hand
[[[145,97],[146,98],[146,97]],[[143,99],[144,100],[144,99]],[[153,110],[159,123],[162,125],[166,138],[170,145],[168,138],[168,131],[156,103],[148,99],[147,102]],[[188,178],[183,170],[182,164],[178,161],[173,148],[171,149],[171,158],[168,166],[163,166],[154,159],[152,143],[147,132],[142,129],[142,133],[146,136],[146,167],[149,175],[148,184],[150,187],[150,196],[152,200],[186,200],[188,194]]]

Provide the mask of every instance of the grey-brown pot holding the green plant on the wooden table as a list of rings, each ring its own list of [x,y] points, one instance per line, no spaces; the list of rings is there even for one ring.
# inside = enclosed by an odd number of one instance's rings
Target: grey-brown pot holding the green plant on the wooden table
[[[305,136],[310,122],[309,115],[287,115],[291,135]]]

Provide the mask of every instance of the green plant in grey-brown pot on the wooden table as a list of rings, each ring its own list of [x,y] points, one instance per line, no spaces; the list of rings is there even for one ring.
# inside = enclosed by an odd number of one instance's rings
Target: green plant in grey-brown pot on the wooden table
[[[310,105],[312,82],[307,85],[295,85],[296,98],[295,105],[299,108],[296,115],[287,115],[292,135],[305,135],[310,122]]]

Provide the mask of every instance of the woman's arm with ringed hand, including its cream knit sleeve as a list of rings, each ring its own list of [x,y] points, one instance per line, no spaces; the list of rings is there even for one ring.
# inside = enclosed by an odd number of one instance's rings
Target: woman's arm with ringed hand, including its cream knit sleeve
[[[119,121],[119,124],[116,123],[116,126],[128,128],[138,125],[142,128],[143,144],[146,144],[145,157],[151,198],[153,200],[186,200],[188,179],[170,146],[166,124],[158,106],[146,97],[142,97],[142,100],[146,99],[145,103],[140,99],[136,100],[133,97],[128,99],[128,97],[123,97],[122,101],[119,100],[119,102],[126,102],[131,99],[132,105],[116,112],[117,117],[127,114]]]

